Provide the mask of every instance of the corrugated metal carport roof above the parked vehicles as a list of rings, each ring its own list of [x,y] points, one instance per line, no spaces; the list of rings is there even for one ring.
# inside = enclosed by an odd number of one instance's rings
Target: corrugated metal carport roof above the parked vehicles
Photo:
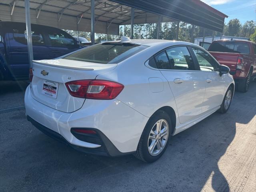
[[[31,22],[76,30],[77,20],[82,17],[80,30],[90,32],[90,3],[90,0],[30,0]],[[130,24],[131,7],[135,8],[134,24],[157,22],[158,15],[162,15],[162,22],[181,20],[222,31],[226,16],[200,0],[95,0],[95,32],[106,33],[108,22],[111,23],[108,33],[118,34],[118,25]],[[0,20],[25,22],[23,13],[24,0],[0,1]]]

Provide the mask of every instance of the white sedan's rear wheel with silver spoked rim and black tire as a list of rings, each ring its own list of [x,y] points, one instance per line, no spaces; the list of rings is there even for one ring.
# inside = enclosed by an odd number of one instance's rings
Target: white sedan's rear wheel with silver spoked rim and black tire
[[[172,122],[164,111],[156,112],[146,124],[134,156],[144,162],[154,162],[164,154],[172,132]]]

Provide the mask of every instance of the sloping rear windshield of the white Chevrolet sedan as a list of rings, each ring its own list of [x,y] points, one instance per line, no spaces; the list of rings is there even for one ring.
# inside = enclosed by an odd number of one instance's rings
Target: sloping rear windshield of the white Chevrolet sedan
[[[64,59],[111,64],[121,62],[146,48],[148,46],[106,42],[79,50]]]

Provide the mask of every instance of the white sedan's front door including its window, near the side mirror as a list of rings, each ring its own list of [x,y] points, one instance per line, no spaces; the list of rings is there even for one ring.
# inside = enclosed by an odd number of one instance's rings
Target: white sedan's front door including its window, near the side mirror
[[[200,73],[206,82],[206,90],[204,94],[204,102],[202,112],[212,110],[222,104],[225,94],[225,80],[226,74],[220,76],[219,64],[216,60],[206,51],[191,47],[192,52],[196,57],[196,61],[200,66]]]

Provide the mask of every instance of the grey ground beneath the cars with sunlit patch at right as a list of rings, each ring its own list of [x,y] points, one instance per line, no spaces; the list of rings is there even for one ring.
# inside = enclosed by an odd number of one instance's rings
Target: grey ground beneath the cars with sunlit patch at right
[[[24,105],[25,88],[26,82],[1,84],[0,110]],[[255,192],[256,83],[235,92],[226,114],[214,113],[171,139],[152,164],[132,155],[92,156],[42,134],[25,110],[2,113],[0,191]]]

